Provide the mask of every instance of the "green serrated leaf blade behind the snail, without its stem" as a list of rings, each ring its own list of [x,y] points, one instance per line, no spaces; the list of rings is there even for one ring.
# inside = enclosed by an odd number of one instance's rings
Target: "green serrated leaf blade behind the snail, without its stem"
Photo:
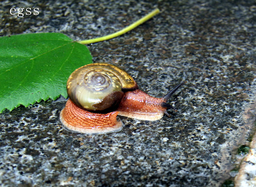
[[[91,62],[86,46],[61,33],[1,37],[0,113],[42,99],[67,98],[67,78]]]

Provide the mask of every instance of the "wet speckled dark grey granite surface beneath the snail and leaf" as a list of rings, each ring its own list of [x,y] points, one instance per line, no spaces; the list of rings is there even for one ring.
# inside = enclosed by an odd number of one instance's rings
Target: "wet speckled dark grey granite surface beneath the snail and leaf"
[[[39,8],[39,15],[9,13],[20,7]],[[230,172],[239,170],[243,159],[237,148],[249,146],[255,131],[254,0],[6,0],[0,35],[61,32],[84,40],[123,29],[156,7],[161,13],[153,19],[88,48],[94,62],[123,68],[152,96],[162,97],[187,80],[169,100],[179,110],[154,122],[120,117],[121,131],[101,135],[64,130],[59,120],[64,101],[5,111],[0,114],[1,186],[237,183]]]

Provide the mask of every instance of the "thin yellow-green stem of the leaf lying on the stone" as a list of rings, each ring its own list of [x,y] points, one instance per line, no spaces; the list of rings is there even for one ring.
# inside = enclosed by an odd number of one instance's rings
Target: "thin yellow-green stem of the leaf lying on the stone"
[[[133,24],[127,26],[126,28],[124,28],[124,29],[122,29],[120,31],[117,31],[117,32],[115,32],[113,34],[110,34],[110,35],[107,35],[107,36],[103,36],[103,37],[99,37],[99,38],[94,38],[94,39],[90,39],[90,40],[78,41],[78,42],[80,44],[92,44],[92,43],[96,43],[96,42],[105,41],[105,40],[109,40],[109,39],[115,38],[117,36],[123,35],[124,33],[134,29],[135,27],[139,26],[140,24],[142,24],[145,21],[149,20],[151,17],[153,17],[156,14],[158,14],[159,12],[160,12],[159,9],[156,8],[154,11],[150,12],[146,16],[142,17],[138,21],[134,22]]]

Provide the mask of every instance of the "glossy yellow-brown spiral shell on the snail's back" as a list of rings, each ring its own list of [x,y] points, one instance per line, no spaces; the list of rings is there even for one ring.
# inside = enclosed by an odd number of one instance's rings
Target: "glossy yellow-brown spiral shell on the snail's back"
[[[67,94],[85,110],[106,110],[119,104],[123,90],[138,89],[126,71],[107,63],[93,63],[76,69],[67,80]]]

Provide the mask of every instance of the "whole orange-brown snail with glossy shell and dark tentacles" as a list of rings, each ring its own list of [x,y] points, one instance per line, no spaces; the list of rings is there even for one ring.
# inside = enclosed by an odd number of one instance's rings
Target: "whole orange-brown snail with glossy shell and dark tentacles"
[[[67,80],[69,99],[60,113],[65,128],[86,134],[120,131],[117,115],[155,121],[176,110],[167,100],[186,81],[162,98],[141,91],[126,71],[107,63],[93,63],[76,69]]]

